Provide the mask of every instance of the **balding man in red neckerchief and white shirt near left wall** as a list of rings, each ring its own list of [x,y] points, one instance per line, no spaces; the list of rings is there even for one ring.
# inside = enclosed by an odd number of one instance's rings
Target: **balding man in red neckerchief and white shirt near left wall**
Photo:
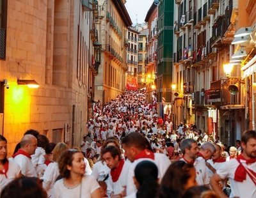
[[[13,162],[20,165],[23,176],[37,177],[35,167],[31,161],[31,155],[35,153],[36,148],[36,137],[24,135],[20,141],[20,149],[13,155]]]

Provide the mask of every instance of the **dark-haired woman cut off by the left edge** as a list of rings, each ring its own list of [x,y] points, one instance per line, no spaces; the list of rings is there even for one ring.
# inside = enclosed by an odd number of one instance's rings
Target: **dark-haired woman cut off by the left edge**
[[[0,191],[13,181],[21,176],[19,165],[8,160],[7,155],[7,140],[3,135],[0,135]]]

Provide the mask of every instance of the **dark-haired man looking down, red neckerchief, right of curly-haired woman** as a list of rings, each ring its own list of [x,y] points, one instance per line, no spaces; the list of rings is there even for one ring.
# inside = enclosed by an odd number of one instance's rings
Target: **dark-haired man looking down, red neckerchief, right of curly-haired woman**
[[[127,174],[129,171],[129,163],[125,162],[121,156],[121,151],[116,146],[107,146],[102,150],[102,158],[111,169],[108,180],[109,197],[125,195],[127,185]]]

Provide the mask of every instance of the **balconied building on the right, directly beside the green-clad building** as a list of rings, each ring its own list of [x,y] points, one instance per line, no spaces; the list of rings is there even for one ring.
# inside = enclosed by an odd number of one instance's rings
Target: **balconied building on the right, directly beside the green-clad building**
[[[195,123],[229,145],[240,139],[246,120],[241,71],[237,66],[225,71],[234,52],[237,2],[176,1],[175,6],[173,79],[182,93],[175,124]]]

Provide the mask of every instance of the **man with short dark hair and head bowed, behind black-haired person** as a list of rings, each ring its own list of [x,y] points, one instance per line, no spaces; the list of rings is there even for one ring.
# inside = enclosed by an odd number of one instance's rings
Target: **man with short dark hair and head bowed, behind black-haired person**
[[[122,146],[125,150],[125,156],[132,162],[129,168],[129,173],[127,174],[127,195],[136,192],[133,176],[134,169],[138,163],[143,160],[154,162],[158,168],[159,180],[163,178],[164,173],[171,164],[168,157],[163,153],[153,153],[147,139],[138,132],[130,133],[125,136],[124,139],[122,139]]]

